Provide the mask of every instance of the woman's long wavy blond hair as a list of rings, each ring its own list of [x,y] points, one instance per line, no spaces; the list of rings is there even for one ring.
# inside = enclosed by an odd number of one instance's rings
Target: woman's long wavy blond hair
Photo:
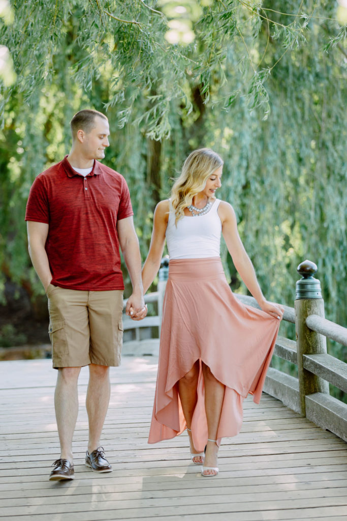
[[[189,154],[171,189],[176,225],[184,216],[184,208],[191,204],[193,197],[205,188],[208,178],[221,166],[223,159],[211,148],[199,148]]]

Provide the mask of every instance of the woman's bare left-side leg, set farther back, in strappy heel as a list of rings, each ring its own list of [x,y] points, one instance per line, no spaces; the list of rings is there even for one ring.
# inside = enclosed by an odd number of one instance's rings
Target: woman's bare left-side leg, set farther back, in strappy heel
[[[178,380],[178,394],[179,399],[181,400],[183,414],[186,420],[186,424],[188,429],[191,427],[191,419],[195,410],[195,406],[198,400],[198,378],[199,378],[199,360],[192,366],[190,371],[184,375],[181,380]],[[189,444],[190,444],[190,452],[192,454],[198,453],[195,450],[194,444],[191,438],[191,432],[188,431],[189,436]],[[197,456],[194,458],[194,463],[202,463],[203,458],[201,456]]]

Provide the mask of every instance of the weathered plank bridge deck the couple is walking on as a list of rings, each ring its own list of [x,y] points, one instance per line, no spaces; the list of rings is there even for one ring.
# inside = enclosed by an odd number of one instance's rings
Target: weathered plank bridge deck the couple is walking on
[[[50,360],[0,363],[0,519],[338,521],[347,517],[345,443],[263,395],[245,401],[241,433],[226,438],[220,474],[203,478],[189,463],[186,433],[147,444],[157,358],[123,357],[111,369],[111,402],[102,444],[113,464],[84,466],[88,371],[80,377],[74,437],[75,480],[48,481],[58,457]]]

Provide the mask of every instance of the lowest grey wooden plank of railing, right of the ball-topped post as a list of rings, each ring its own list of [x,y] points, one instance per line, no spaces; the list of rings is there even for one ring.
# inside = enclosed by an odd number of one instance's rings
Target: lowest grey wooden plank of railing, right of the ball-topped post
[[[305,402],[308,419],[347,441],[347,404],[322,393],[306,396]]]

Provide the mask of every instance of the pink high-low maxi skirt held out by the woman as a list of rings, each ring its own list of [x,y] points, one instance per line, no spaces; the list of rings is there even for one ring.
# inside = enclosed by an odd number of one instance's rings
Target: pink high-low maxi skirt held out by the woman
[[[177,382],[197,360],[198,401],[191,423],[195,449],[203,451],[208,438],[201,362],[225,385],[218,444],[237,435],[243,399],[251,393],[260,402],[278,328],[277,318],[234,296],[219,257],[170,261],[148,443],[174,438],[186,428]]]

